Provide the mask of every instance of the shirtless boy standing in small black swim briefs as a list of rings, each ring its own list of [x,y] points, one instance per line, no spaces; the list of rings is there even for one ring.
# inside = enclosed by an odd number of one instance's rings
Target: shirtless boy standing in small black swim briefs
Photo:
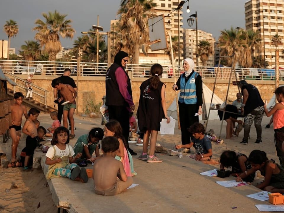
[[[25,115],[25,118],[28,119],[27,109],[22,105],[23,98],[24,96],[21,92],[16,92],[14,94],[15,103],[11,105],[12,126],[9,127],[9,134],[12,138],[12,164],[16,161],[17,149],[22,133],[21,124],[23,114]]]

